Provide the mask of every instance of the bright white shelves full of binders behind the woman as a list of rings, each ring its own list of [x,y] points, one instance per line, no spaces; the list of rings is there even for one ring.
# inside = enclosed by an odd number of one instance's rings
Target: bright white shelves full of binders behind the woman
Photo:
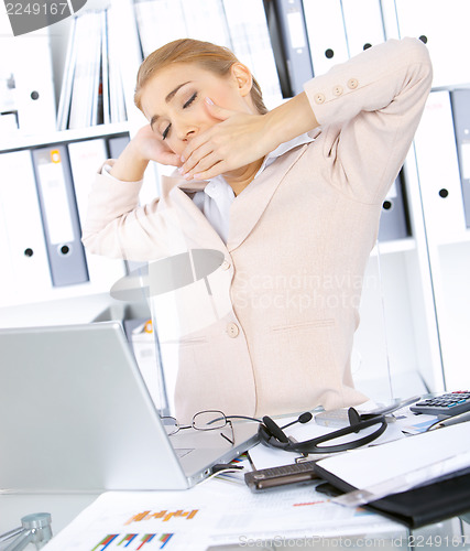
[[[109,295],[129,267],[79,240],[94,172],[145,123],[132,101],[143,55],[183,35],[226,44],[274,107],[311,75],[409,35],[429,48],[433,91],[384,203],[353,375],[381,400],[470,387],[469,17],[468,0],[89,0],[13,39],[2,14],[0,326],[143,315]],[[149,168],[142,202],[165,171]]]

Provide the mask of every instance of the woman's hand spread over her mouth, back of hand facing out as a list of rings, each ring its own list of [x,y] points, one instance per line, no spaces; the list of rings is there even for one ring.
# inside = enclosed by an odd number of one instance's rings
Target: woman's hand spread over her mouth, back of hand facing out
[[[208,180],[262,159],[274,149],[263,115],[231,111],[206,99],[209,114],[221,122],[193,138],[182,154],[186,180]]]

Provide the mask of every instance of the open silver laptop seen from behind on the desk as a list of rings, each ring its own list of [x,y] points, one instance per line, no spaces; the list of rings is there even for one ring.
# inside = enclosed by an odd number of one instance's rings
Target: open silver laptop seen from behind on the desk
[[[0,331],[0,490],[184,489],[258,423],[166,434],[119,322]]]

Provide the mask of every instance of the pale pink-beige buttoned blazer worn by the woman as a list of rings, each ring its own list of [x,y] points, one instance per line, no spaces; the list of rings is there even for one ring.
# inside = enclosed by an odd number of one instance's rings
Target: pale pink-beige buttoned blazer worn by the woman
[[[306,83],[316,139],[234,199],[227,245],[192,201],[205,182],[163,177],[161,197],[138,206],[140,183],[97,176],[83,237],[91,252],[223,255],[207,281],[153,298],[181,419],[367,399],[350,371],[362,277],[430,83],[427,48],[415,39],[387,41]]]

